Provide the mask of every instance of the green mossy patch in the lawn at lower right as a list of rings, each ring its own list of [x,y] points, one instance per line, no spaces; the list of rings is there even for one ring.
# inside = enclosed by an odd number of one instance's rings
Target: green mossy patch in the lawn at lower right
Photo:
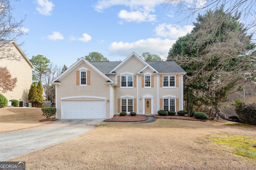
[[[206,135],[214,143],[228,145],[233,147],[236,151],[233,154],[245,156],[256,159],[256,147],[252,147],[256,143],[255,137],[248,137],[242,135]]]

